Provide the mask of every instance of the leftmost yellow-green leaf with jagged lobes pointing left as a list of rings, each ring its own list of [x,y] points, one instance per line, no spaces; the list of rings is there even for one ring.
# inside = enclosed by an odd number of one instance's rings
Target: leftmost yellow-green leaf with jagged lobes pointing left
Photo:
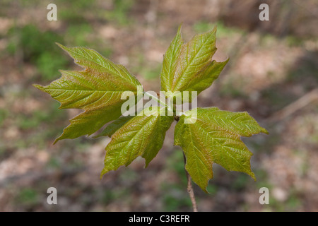
[[[61,102],[60,109],[79,108],[85,112],[70,120],[61,136],[77,138],[98,131],[107,122],[122,115],[121,100],[125,92],[137,93],[139,81],[124,66],[114,64],[93,49],[85,47],[59,47],[69,53],[84,71],[61,71],[61,78],[47,86],[35,85]]]

